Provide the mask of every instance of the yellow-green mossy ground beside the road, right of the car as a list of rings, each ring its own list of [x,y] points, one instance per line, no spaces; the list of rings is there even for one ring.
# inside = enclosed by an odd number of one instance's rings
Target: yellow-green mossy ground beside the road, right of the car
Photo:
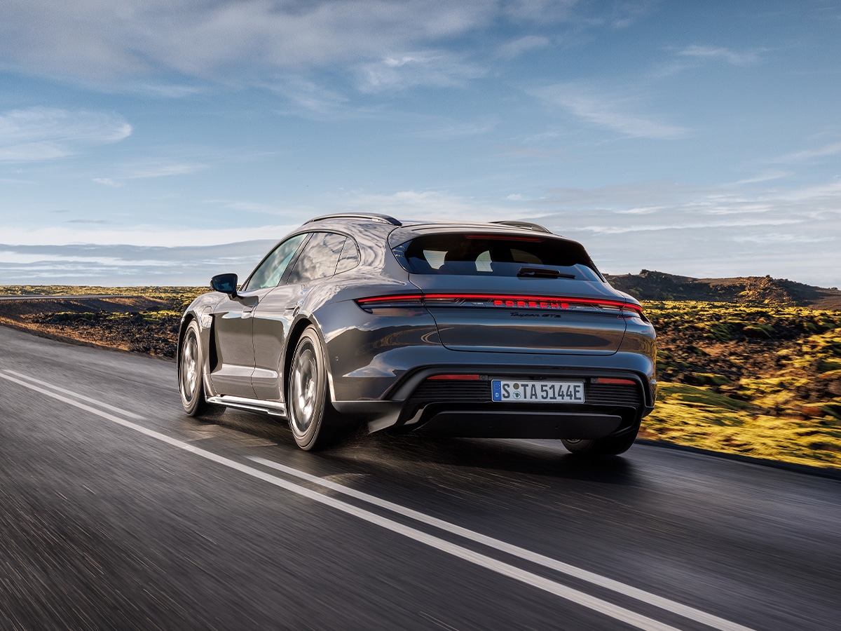
[[[643,437],[841,468],[841,311],[670,301]]]

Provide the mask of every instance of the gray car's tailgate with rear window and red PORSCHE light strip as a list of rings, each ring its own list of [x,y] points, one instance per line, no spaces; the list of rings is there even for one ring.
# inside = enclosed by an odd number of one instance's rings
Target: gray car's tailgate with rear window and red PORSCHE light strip
[[[610,355],[625,335],[625,301],[574,241],[448,233],[395,253],[452,350]]]

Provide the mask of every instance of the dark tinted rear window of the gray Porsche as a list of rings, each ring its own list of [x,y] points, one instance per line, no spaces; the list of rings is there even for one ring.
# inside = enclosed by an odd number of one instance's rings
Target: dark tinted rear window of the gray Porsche
[[[579,243],[538,236],[418,236],[394,247],[394,256],[417,274],[602,280]]]

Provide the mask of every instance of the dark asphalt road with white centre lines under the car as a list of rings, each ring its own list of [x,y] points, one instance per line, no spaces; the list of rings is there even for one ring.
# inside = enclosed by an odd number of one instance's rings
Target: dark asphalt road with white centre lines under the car
[[[0,327],[2,629],[828,629],[841,482],[635,445],[184,416],[176,367]]]

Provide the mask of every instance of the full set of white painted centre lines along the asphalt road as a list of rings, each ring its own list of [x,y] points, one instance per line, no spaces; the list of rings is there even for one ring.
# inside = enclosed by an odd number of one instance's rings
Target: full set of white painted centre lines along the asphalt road
[[[12,374],[24,377],[24,379],[29,379],[29,382],[13,377]],[[172,447],[182,449],[183,451],[186,451],[188,453],[193,453],[194,455],[200,456],[204,459],[208,459],[216,464],[222,464],[230,469],[234,469],[246,475],[250,475],[251,477],[256,478],[257,480],[262,480],[264,482],[267,482],[268,484],[278,486],[280,488],[293,492],[299,496],[304,496],[309,500],[320,502],[321,504],[324,504],[326,506],[331,506],[332,508],[335,508],[338,511],[345,512],[348,515],[352,515],[353,517],[357,517],[359,519],[362,519],[363,521],[373,523],[377,526],[380,526],[381,528],[385,528],[394,533],[398,533],[407,538],[411,538],[418,543],[426,544],[431,548],[435,548],[447,554],[451,554],[452,556],[455,556],[458,559],[466,560],[469,563],[472,563],[473,565],[478,565],[479,567],[482,567],[486,570],[494,571],[497,574],[507,576],[509,578],[515,579],[516,581],[521,581],[526,585],[536,587],[537,589],[540,589],[542,591],[547,591],[548,593],[551,593],[555,596],[562,597],[566,600],[577,603],[583,607],[592,609],[595,612],[600,612],[606,616],[609,616],[610,618],[614,618],[623,623],[630,624],[637,628],[651,629],[652,631],[676,631],[674,627],[671,627],[668,624],[661,623],[653,618],[648,618],[647,616],[643,616],[642,614],[633,612],[625,607],[619,607],[611,602],[607,602],[600,598],[591,596],[590,594],[587,594],[584,591],[576,590],[572,587],[565,586],[562,583],[558,583],[557,581],[551,581],[547,578],[544,578],[543,576],[536,575],[526,570],[521,570],[521,568],[507,564],[498,559],[494,559],[485,554],[480,554],[478,552],[474,552],[473,550],[463,548],[462,546],[459,546],[457,544],[452,544],[451,542],[445,539],[438,538],[428,533],[424,533],[423,531],[418,530],[417,528],[405,526],[404,524],[401,524],[399,522],[394,522],[394,520],[389,519],[388,517],[382,517],[376,513],[367,511],[358,506],[348,504],[345,501],[337,500],[335,497],[324,495],[320,491],[312,490],[306,486],[296,484],[290,480],[284,480],[283,478],[279,478],[276,475],[269,474],[262,469],[256,469],[248,464],[243,464],[241,462],[225,458],[224,456],[220,456],[217,453],[209,452],[206,449],[195,447],[190,443],[186,443],[177,438],[167,436],[166,434],[163,434],[161,432],[156,432],[155,430],[143,427],[141,425],[138,425],[137,423],[126,421],[124,418],[108,414],[108,412],[106,411],[98,410],[97,408],[88,406],[78,400],[70,399],[64,395],[58,394],[53,390],[46,390],[45,388],[40,387],[39,385],[31,383],[37,380],[28,376],[19,375],[17,373],[13,373],[13,371],[10,370],[4,370],[0,372],[0,378],[22,385],[24,386],[24,388],[28,388],[29,390],[40,392],[41,394],[47,395],[53,399],[63,401],[64,403],[71,406],[75,406],[80,410],[88,411],[96,416],[100,416],[101,418],[114,422],[122,427],[126,427],[128,429],[134,430],[135,432],[144,434],[147,437],[155,438],[156,440],[161,441],[161,443],[167,443]],[[49,387],[52,388],[54,386],[50,385]],[[98,405],[103,405],[101,402],[97,401],[97,403]],[[119,408],[116,408],[116,410],[118,410],[119,413],[127,414],[127,411],[119,410]],[[643,590],[638,590],[637,588],[632,586],[624,585],[619,581],[612,581],[611,579],[608,579],[604,576],[596,575],[586,570],[576,568],[573,565],[564,564],[555,559],[550,559],[549,557],[542,556],[541,554],[532,553],[526,549],[521,549],[510,544],[505,544],[504,542],[501,542],[497,539],[485,537],[484,535],[481,535],[479,533],[473,533],[473,531],[470,531],[466,528],[458,527],[455,524],[444,522],[442,520],[436,519],[435,517],[426,516],[421,512],[413,511],[409,508],[405,508],[404,506],[399,506],[397,504],[381,500],[374,496],[368,496],[365,493],[361,493],[360,491],[352,490],[348,487],[337,485],[336,483],[330,482],[329,480],[322,480],[314,475],[309,475],[304,473],[303,471],[299,471],[298,469],[291,469],[278,463],[272,463],[272,461],[270,460],[254,460],[259,462],[260,464],[271,466],[275,469],[283,470],[284,473],[287,473],[289,475],[295,475],[296,477],[308,480],[309,482],[314,482],[315,484],[319,484],[321,486],[324,486],[325,488],[339,491],[348,496],[357,497],[357,499],[368,501],[373,505],[386,508],[387,510],[392,512],[397,512],[401,515],[404,515],[405,517],[410,517],[412,519],[415,519],[416,521],[426,523],[427,525],[435,526],[436,528],[442,528],[449,533],[458,534],[459,536],[463,538],[468,538],[474,542],[488,545],[495,549],[500,549],[509,554],[514,554],[521,559],[531,560],[535,563],[539,563],[540,565],[544,565],[554,570],[558,570],[567,575],[583,578],[585,581],[590,581],[595,585],[605,586],[624,595],[636,598],[641,602],[653,604],[654,606],[664,609],[666,611],[679,613],[685,618],[690,618],[692,620],[695,620],[696,622],[704,623],[712,628],[722,629],[722,631],[751,631],[751,629],[749,629],[748,627],[743,627],[742,625],[732,623],[723,618],[712,616],[711,614],[701,612],[701,610],[695,609],[693,607],[686,607],[684,605],[680,605],[680,603],[654,596],[653,594],[649,594],[648,592]]]

